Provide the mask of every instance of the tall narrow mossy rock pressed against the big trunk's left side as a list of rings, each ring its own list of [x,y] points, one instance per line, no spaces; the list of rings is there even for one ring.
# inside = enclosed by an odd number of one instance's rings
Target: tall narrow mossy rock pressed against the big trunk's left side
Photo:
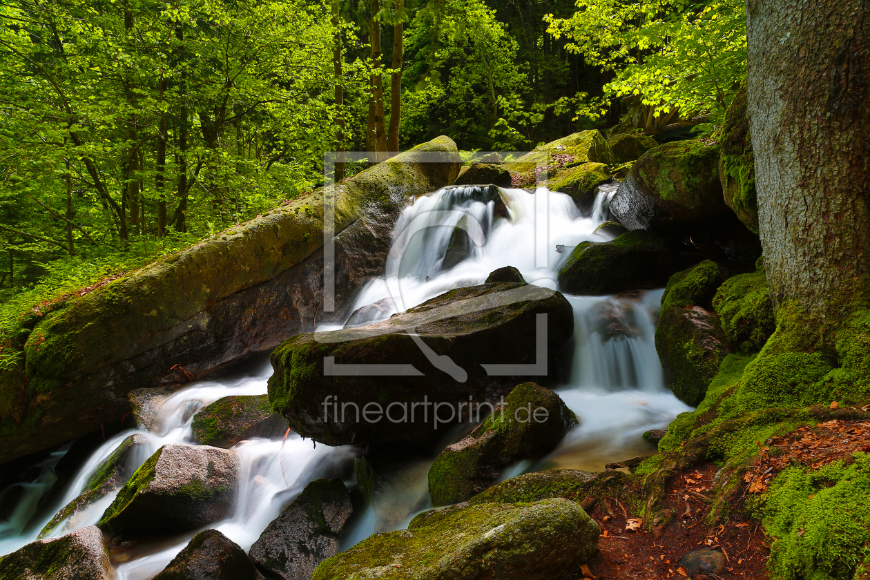
[[[759,207],[755,193],[755,156],[746,117],[746,81],[725,114],[719,156],[719,179],[725,203],[750,230],[759,231]]]

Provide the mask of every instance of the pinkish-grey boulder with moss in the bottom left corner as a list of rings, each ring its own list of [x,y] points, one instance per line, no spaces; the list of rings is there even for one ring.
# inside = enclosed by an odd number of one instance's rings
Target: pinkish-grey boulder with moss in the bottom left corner
[[[95,526],[37,540],[0,558],[0,580],[110,580],[115,577]]]

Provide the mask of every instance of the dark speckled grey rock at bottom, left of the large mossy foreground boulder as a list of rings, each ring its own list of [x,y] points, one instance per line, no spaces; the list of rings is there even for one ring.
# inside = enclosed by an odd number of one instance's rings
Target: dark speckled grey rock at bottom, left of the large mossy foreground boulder
[[[269,524],[251,546],[251,558],[283,580],[308,580],[338,553],[338,537],[353,513],[341,479],[318,479]]]

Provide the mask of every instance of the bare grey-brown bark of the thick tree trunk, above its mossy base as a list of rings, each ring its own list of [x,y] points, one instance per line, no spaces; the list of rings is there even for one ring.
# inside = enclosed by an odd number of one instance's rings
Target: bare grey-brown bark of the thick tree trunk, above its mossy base
[[[748,0],[748,116],[771,296],[808,332],[870,298],[870,3]]]

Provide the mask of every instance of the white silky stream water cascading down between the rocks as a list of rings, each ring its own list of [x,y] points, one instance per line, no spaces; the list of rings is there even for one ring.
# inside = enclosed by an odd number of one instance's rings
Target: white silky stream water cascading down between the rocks
[[[405,233],[394,241],[395,251],[385,264],[385,276],[372,279],[359,291],[350,311],[361,310],[351,323],[382,320],[447,290],[484,283],[492,270],[502,266],[519,269],[529,283],[555,289],[559,266],[573,246],[586,240],[611,239],[595,233],[606,220],[611,195],[612,188],[601,188],[588,215],[583,215],[571,197],[545,188],[532,194],[452,186],[420,197],[399,218],[396,230]],[[653,333],[660,296],[661,290],[626,297],[567,296],[574,310],[575,330],[564,352],[566,371],[555,389],[577,413],[580,424],[549,457],[533,465],[516,465],[506,470],[502,479],[527,470],[603,470],[608,461],[653,452],[653,445],[641,434],[663,429],[677,414],[689,410],[666,389],[656,355]],[[374,303],[378,303],[377,308],[363,308]],[[318,326],[318,330],[334,328]],[[57,481],[53,468],[66,449],[52,453],[32,468],[36,475],[24,484],[9,519],[0,522],[0,555],[35,540],[53,514],[81,493],[88,478],[124,438],[139,434],[144,439],[131,457],[137,465],[166,443],[195,444],[191,423],[199,410],[229,395],[263,395],[270,375],[271,366],[262,363],[247,377],[191,383],[178,390],[160,406],[152,430],[139,426],[107,439],[81,466],[53,510],[34,523],[30,520],[37,502]],[[350,447],[313,445],[296,434],[284,441],[244,441],[233,449],[240,464],[238,497],[231,516],[210,527],[244,550],[250,549],[306,483],[318,477],[352,478],[353,458],[360,453]],[[358,519],[343,545],[365,539],[375,530],[405,527],[413,513],[428,507],[427,470],[428,463],[412,466],[403,483],[391,492],[406,517],[385,524],[378,522],[370,509]],[[79,512],[74,521],[58,526],[51,537],[97,523],[116,495],[110,494]],[[163,543],[113,554],[117,577],[153,577],[194,534],[167,537]]]

